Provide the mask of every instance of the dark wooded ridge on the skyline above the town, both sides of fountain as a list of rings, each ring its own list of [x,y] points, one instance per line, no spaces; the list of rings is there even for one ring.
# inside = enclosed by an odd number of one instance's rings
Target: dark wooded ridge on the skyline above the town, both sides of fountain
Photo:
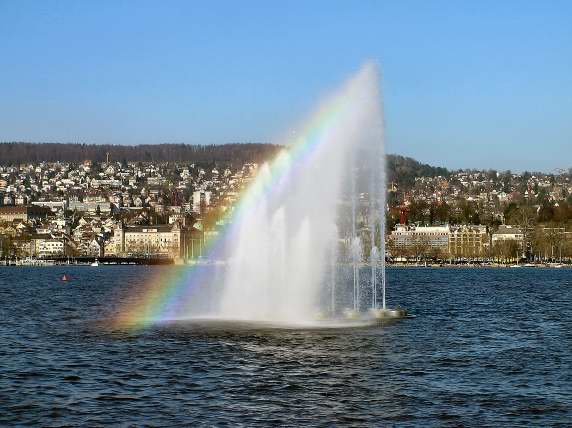
[[[0,165],[26,162],[102,162],[107,153],[114,161],[236,163],[260,162],[271,159],[281,146],[273,144],[143,144],[137,146],[108,144],[0,143]],[[445,168],[433,167],[415,159],[387,156],[388,181],[411,185],[415,177],[449,175]]]

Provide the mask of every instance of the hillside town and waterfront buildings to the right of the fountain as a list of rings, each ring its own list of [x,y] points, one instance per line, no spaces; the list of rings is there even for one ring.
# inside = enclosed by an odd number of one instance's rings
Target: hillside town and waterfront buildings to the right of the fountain
[[[570,261],[572,169],[557,174],[457,171],[390,185],[394,259]]]

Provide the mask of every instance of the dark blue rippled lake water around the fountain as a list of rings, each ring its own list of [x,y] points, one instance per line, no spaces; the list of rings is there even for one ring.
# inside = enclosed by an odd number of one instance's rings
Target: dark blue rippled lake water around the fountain
[[[0,425],[572,425],[572,270],[390,269],[417,317],[375,328],[111,329],[158,269],[0,268]]]

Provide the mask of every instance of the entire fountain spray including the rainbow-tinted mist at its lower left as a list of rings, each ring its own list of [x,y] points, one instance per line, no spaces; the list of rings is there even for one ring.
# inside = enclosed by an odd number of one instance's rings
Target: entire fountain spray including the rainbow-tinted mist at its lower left
[[[213,265],[200,263],[150,278],[118,311],[116,325],[208,319],[338,327],[407,316],[386,304],[377,68],[362,67],[297,134],[257,169],[238,203],[225,211],[223,232],[207,240],[206,260],[222,266],[214,265],[213,273]],[[365,259],[370,279],[360,274]]]

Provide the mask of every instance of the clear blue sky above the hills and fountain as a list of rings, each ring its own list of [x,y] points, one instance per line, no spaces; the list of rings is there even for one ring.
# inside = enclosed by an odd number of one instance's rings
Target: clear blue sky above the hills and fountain
[[[372,59],[388,151],[572,166],[568,0],[0,0],[0,141],[273,141]]]

